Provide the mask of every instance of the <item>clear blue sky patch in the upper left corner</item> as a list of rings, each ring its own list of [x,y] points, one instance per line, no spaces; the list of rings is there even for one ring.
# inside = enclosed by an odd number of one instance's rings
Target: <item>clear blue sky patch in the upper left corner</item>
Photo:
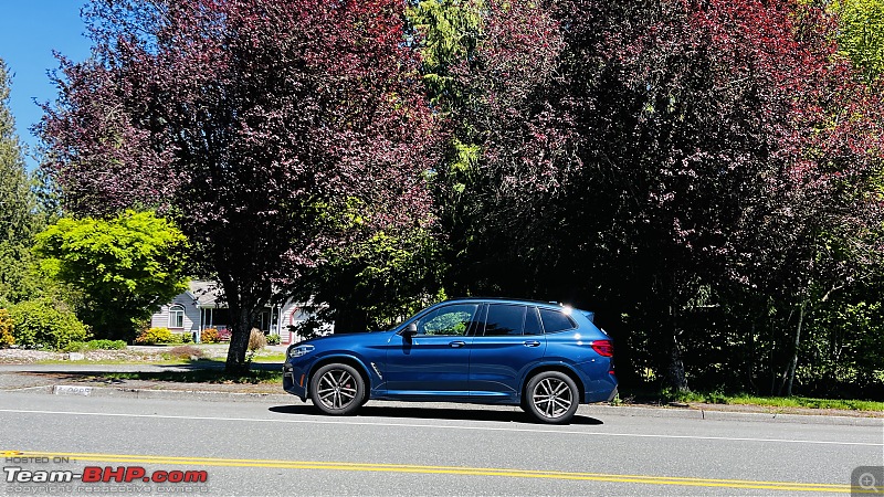
[[[52,51],[73,61],[90,54],[86,27],[80,18],[83,0],[4,0],[0,4],[0,59],[12,75],[9,107],[21,141],[34,147],[31,126],[42,110],[34,103],[54,101],[57,93],[46,71],[59,67]],[[28,158],[33,169],[35,162]]]

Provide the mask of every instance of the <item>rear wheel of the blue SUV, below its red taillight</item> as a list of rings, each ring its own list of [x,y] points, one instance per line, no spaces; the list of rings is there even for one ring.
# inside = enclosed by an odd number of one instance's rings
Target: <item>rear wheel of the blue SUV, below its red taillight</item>
[[[571,421],[580,405],[580,391],[571,377],[559,371],[541,371],[525,387],[523,409],[541,423]]]

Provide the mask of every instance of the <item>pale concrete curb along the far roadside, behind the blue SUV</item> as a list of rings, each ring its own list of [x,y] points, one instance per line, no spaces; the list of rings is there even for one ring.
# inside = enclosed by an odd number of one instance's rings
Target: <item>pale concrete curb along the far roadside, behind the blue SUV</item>
[[[287,393],[248,393],[248,392],[219,392],[211,390],[151,390],[112,387],[83,387],[69,384],[53,384],[43,387],[30,387],[22,389],[3,390],[3,392],[29,392],[55,395],[82,395],[101,396],[117,399],[159,399],[159,400],[193,400],[202,402],[273,402],[280,404],[301,403],[301,400]],[[371,401],[375,405],[401,405],[427,408],[452,409],[464,404],[450,403],[411,403],[411,402],[390,402]],[[481,404],[469,404],[470,409],[516,409],[512,406],[484,406]],[[455,408],[456,409],[456,408]],[[759,413],[759,412],[734,412],[714,411],[707,409],[690,408],[646,408],[632,405],[602,405],[591,404],[581,405],[577,411],[578,415],[591,417],[606,416],[630,416],[630,417],[657,417],[657,419],[680,419],[697,421],[725,421],[725,422],[756,422],[756,423],[792,423],[792,424],[829,424],[829,425],[852,425],[852,426],[881,426],[884,427],[882,417],[861,417],[861,416],[839,416],[820,414],[783,414],[783,413]]]

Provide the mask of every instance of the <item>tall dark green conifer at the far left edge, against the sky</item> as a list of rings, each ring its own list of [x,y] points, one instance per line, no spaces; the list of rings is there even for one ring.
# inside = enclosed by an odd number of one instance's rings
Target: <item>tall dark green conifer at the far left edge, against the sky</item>
[[[9,110],[10,78],[0,60],[0,303],[15,303],[36,290],[33,235],[39,230],[36,199],[23,149]]]

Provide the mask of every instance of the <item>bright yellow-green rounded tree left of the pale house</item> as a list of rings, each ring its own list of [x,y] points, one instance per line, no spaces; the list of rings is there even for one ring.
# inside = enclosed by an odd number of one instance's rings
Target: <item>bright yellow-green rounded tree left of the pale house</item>
[[[152,212],[61,219],[36,242],[46,272],[83,292],[80,315],[99,338],[130,339],[139,319],[186,287],[187,241]]]

